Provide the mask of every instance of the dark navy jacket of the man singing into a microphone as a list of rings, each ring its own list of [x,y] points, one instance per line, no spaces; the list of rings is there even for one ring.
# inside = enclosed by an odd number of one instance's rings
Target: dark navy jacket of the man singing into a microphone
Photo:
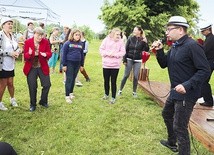
[[[209,63],[203,48],[187,35],[176,41],[167,54],[157,51],[157,60],[162,68],[168,67],[171,82],[170,98],[196,102],[201,94],[201,85],[210,75]],[[182,84],[186,94],[173,90]]]

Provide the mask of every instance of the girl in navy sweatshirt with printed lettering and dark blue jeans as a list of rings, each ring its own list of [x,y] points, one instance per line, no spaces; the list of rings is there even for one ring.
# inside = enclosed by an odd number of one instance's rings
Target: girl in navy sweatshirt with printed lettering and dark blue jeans
[[[67,103],[72,103],[75,79],[84,60],[80,30],[70,32],[68,41],[63,44],[62,52],[62,69],[66,73],[65,100]]]

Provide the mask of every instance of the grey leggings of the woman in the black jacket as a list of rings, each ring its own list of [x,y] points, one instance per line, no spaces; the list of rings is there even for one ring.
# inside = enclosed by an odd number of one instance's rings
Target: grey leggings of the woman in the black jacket
[[[123,89],[123,87],[126,84],[126,80],[128,79],[130,72],[133,68],[133,92],[136,92],[137,90],[137,85],[138,85],[138,76],[140,73],[140,67],[141,67],[141,62],[134,62],[133,60],[127,60],[127,64],[125,67],[125,73],[123,76],[123,79],[120,84],[120,90]]]

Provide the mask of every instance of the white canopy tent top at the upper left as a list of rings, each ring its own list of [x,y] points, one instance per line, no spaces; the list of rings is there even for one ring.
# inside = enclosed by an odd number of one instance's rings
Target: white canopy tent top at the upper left
[[[0,18],[30,19],[59,23],[60,16],[40,0],[0,0]]]

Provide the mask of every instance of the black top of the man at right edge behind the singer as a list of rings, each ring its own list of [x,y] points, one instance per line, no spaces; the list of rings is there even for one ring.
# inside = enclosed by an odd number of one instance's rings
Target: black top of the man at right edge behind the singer
[[[214,35],[212,33],[206,36],[203,46],[207,59],[214,60]]]

